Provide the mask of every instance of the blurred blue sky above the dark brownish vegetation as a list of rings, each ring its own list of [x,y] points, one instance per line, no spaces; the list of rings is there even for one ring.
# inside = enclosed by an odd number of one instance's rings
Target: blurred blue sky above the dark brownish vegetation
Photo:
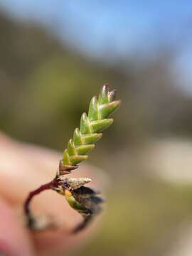
[[[192,81],[192,1],[6,0],[0,6],[97,58],[178,46],[176,65]]]

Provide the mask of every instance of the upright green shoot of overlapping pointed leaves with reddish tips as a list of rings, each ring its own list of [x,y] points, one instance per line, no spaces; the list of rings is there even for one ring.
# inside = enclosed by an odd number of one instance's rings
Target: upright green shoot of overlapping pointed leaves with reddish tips
[[[83,113],[80,119],[80,129],[76,128],[73,139],[68,142],[68,148],[60,161],[60,175],[76,169],[80,162],[86,160],[89,151],[95,148],[95,143],[102,138],[102,130],[107,129],[112,122],[109,117],[117,110],[120,100],[115,100],[116,90],[109,91],[109,85],[103,85],[99,98],[92,97],[88,115]]]

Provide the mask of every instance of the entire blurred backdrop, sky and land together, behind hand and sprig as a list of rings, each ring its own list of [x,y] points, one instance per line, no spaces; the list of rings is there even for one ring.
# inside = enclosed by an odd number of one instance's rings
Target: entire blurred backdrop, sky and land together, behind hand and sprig
[[[109,178],[102,228],[70,255],[191,255],[191,1],[6,0],[0,10],[6,134],[62,151],[102,84],[122,99],[89,159]]]

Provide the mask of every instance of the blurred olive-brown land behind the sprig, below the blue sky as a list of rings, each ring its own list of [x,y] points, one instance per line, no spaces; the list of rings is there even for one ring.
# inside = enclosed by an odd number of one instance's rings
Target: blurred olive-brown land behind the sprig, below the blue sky
[[[102,228],[78,255],[190,255],[192,98],[172,70],[177,49],[105,63],[3,13],[0,33],[0,129],[11,137],[62,151],[103,83],[122,99],[89,160],[109,176]]]

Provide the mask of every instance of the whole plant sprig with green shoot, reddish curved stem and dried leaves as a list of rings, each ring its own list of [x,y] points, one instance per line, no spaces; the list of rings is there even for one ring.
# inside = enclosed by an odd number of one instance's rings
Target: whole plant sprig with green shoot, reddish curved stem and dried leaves
[[[102,138],[102,130],[109,127],[113,119],[108,118],[117,110],[120,100],[115,100],[116,90],[109,91],[108,85],[103,85],[100,95],[93,97],[90,102],[88,115],[82,114],[80,129],[76,128],[73,139],[68,142],[68,148],[63,153],[55,178],[28,194],[24,203],[24,212],[27,218],[28,228],[39,230],[37,219],[33,216],[30,203],[34,196],[47,189],[52,189],[65,196],[70,207],[82,215],[82,223],[73,229],[73,233],[85,228],[92,217],[100,213],[102,198],[98,191],[85,186],[91,181],[90,178],[64,178],[66,174],[78,169],[78,164],[88,158],[87,153],[95,148],[95,143]],[[45,226],[44,228],[48,228]]]

